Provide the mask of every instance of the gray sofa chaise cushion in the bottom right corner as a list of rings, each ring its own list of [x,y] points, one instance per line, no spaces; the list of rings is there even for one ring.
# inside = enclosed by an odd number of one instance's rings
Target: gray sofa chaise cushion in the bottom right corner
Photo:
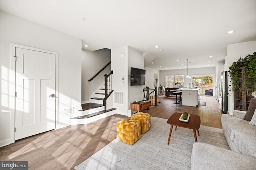
[[[194,143],[191,170],[252,170],[256,169],[256,157],[216,147],[206,143]]]

